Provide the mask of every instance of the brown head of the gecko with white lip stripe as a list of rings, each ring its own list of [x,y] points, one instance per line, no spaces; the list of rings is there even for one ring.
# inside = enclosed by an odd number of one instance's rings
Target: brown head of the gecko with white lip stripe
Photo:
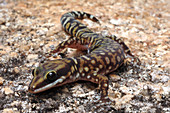
[[[48,61],[33,69],[33,79],[29,85],[30,93],[40,93],[64,84],[70,66],[61,59]]]

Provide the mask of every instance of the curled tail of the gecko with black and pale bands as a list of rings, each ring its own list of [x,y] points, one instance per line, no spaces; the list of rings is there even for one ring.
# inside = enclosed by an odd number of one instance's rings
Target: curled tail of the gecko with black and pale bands
[[[76,19],[85,19],[85,18],[88,18],[94,22],[99,23],[99,20],[91,14],[81,12],[81,11],[71,11],[69,13],[65,13],[61,17],[61,24],[64,30],[73,37],[82,37],[82,35],[89,36],[90,34],[91,35],[96,34],[90,29],[88,29],[84,24],[76,20]]]

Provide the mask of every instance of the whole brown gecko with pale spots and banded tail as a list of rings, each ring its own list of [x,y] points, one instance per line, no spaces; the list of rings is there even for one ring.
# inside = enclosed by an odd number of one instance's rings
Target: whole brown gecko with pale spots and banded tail
[[[78,80],[99,84],[102,101],[108,100],[108,73],[120,67],[126,60],[125,55],[134,57],[121,39],[115,36],[103,37],[94,33],[76,19],[89,18],[99,22],[85,12],[72,11],[61,17],[64,30],[71,37],[60,43],[50,55],[64,48],[76,48],[87,51],[80,57],[47,61],[33,70],[29,92],[39,93],[52,87],[61,86]]]

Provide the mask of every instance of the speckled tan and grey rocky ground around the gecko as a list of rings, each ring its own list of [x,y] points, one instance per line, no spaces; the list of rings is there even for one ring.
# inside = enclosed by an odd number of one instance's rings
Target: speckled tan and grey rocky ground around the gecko
[[[101,25],[82,22],[97,33],[122,37],[142,62],[110,74],[109,98],[115,103],[103,112],[170,112],[168,6],[168,0],[0,0],[0,112],[99,112],[92,109],[99,93],[90,82],[37,95],[27,91],[32,69],[69,37],[60,17],[72,10],[95,15]]]

